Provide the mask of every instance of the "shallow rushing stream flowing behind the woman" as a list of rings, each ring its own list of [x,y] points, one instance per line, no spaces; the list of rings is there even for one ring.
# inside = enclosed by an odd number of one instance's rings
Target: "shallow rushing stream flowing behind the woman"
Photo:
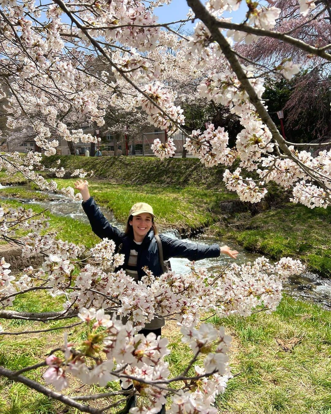
[[[2,187],[2,186],[1,186]],[[0,187],[0,188],[1,188]],[[45,192],[43,192],[45,193]],[[84,213],[81,202],[76,202],[67,199],[64,196],[57,195],[54,193],[48,193],[50,195],[51,200],[46,201],[37,201],[37,200],[24,200],[24,199],[17,199],[17,197],[0,197],[1,199],[5,200],[19,200],[21,202],[29,204],[37,204],[40,207],[48,209],[52,214],[57,216],[69,216],[72,219],[81,221],[82,223],[89,224],[89,221]],[[113,213],[106,208],[101,209],[103,214],[107,217],[110,224],[113,226],[118,227],[119,229],[124,229],[124,224],[120,223],[115,220]],[[168,237],[180,239],[180,234],[171,229],[162,229],[159,228],[160,233],[165,234]],[[237,264],[241,265],[247,261],[253,261],[257,257],[261,256],[261,254],[257,253],[250,253],[244,250],[241,246],[236,246],[233,243],[227,243],[225,240],[218,240],[215,238],[208,237],[204,234],[201,234],[197,237],[192,237],[190,239],[183,239],[189,242],[195,242],[200,244],[228,244],[231,248],[238,250],[239,254],[237,256]],[[211,258],[205,260],[199,260],[197,262],[198,266],[206,267],[207,270],[213,271],[217,270],[223,265],[226,265],[230,260],[228,256],[221,255],[219,258]],[[270,260],[272,262],[272,260]],[[172,258],[170,260],[171,267],[177,273],[185,273],[188,272],[189,269],[186,266],[189,263],[187,259],[178,259]],[[326,309],[331,310],[331,279],[323,278],[318,274],[314,274],[312,272],[305,272],[300,276],[290,277],[287,283],[283,284],[284,291],[293,296],[297,299],[304,299],[307,301],[311,301],[314,303],[318,303],[319,305],[323,306]]]

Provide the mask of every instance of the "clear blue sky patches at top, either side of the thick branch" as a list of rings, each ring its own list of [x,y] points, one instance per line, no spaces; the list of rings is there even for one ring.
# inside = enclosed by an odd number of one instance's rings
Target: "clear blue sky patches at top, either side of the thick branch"
[[[232,21],[234,23],[240,23],[245,19],[245,13],[247,11],[246,2],[242,2],[240,9],[232,14],[225,13],[224,17],[233,16]],[[186,0],[173,0],[169,6],[160,6],[157,7],[154,11],[154,14],[158,16],[159,23],[169,23],[174,22],[175,20],[185,19],[189,7],[187,6]],[[195,25],[195,23],[194,23]],[[188,23],[187,28],[191,29],[192,24]]]

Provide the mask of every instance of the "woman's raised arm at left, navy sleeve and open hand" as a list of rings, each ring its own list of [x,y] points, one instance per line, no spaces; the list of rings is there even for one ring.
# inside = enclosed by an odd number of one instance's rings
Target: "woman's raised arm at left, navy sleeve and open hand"
[[[82,194],[82,207],[87,215],[87,218],[89,219],[92,230],[101,239],[107,237],[110,240],[113,240],[116,244],[116,248],[118,248],[120,243],[122,243],[124,233],[117,227],[112,226],[106,217],[101,213],[100,208],[90,195],[88,185],[89,183],[86,180],[77,180],[74,183],[74,188]]]

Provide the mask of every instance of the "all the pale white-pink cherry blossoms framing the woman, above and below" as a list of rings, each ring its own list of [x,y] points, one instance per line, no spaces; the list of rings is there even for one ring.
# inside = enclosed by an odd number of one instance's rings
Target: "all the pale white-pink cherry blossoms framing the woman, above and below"
[[[242,201],[261,201],[267,192],[265,184],[274,181],[292,191],[294,203],[328,207],[331,151],[310,153],[285,141],[262,100],[264,78],[270,72],[290,79],[299,72],[299,65],[288,57],[276,67],[247,62],[235,43],[276,36],[309,58],[318,57],[322,64],[330,61],[327,49],[299,41],[292,32],[276,33],[273,29],[280,9],[272,2],[248,2],[245,21],[235,24],[235,12],[244,2],[209,0],[201,8],[201,2],[187,0],[191,6],[187,19],[197,19],[194,33],[187,38],[171,24],[158,24],[156,7],[170,2],[102,0],[80,4],[57,0],[38,4],[2,0],[0,98],[6,127],[0,135],[13,143],[32,138],[43,154],[22,157],[3,149],[1,169],[9,176],[21,174],[41,190],[79,200],[73,188],[58,188],[44,173],[82,178],[93,172],[82,168],[68,171],[60,162],[46,168],[42,157],[55,154],[60,140],[97,143],[98,138],[85,133],[83,126],[103,127],[107,117],[113,117],[112,132],[123,130],[128,123],[132,135],[149,125],[165,130],[168,136],[182,130],[185,148],[202,164],[229,167],[223,181]],[[309,14],[309,19],[314,19],[321,6],[299,0],[297,7],[303,16]],[[193,131],[183,129],[185,108],[192,104],[204,108],[209,103],[226,106],[238,117],[241,130],[234,147],[229,147],[228,131],[213,123],[205,130],[202,126]],[[152,150],[160,159],[173,156],[173,138],[164,143],[155,140]],[[235,161],[234,171],[230,171]],[[252,171],[254,179],[249,176]],[[39,269],[29,266],[17,278],[2,258],[2,314],[8,306],[15,306],[17,295],[26,290],[43,289],[62,298],[62,311],[52,313],[49,320],[76,318],[86,330],[86,341],[68,344],[65,335],[60,349],[46,358],[43,381],[62,391],[72,377],[100,386],[121,380],[127,395],[147,399],[146,408],[132,412],[159,412],[170,392],[170,413],[216,414],[216,395],[224,392],[231,378],[230,337],[222,327],[199,325],[199,312],[219,317],[247,316],[261,309],[271,312],[281,301],[283,282],[303,270],[301,263],[291,258],[271,265],[262,257],[241,266],[231,263],[214,274],[194,263],[187,274],[167,272],[155,277],[145,269],[142,280],[135,282],[123,270],[114,271],[123,264],[123,257],[115,253],[112,241],[104,239],[87,250],[58,240],[53,233],[41,235],[47,225],[47,220],[30,209],[0,207],[2,240],[16,240],[17,230],[24,229],[27,234],[17,239],[22,256],[29,260],[31,255],[43,255]],[[42,314],[24,315],[19,317],[29,320],[37,315],[48,321]],[[187,387],[187,381],[171,378],[164,359],[170,352],[168,340],[139,333],[154,318],[176,319],[181,326],[183,340],[192,351],[192,387]],[[182,374],[187,375],[185,369]],[[170,382],[180,384],[169,389]],[[58,397],[46,390],[47,395]],[[70,397],[66,401],[78,407]]]

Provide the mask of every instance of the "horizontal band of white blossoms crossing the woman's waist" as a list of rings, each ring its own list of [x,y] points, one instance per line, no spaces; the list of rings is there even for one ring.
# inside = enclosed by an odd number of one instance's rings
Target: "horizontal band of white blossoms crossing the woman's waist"
[[[31,272],[26,272],[17,286],[25,286],[28,276],[30,285],[36,286],[42,280],[50,287],[50,294],[65,295],[66,309],[112,308],[140,327],[153,318],[168,319],[173,315],[180,324],[189,326],[197,324],[200,308],[220,316],[233,312],[249,315],[257,306],[274,309],[281,299],[282,281],[303,270],[299,261],[284,259],[284,270],[279,264],[282,261],[271,265],[261,258],[253,265],[231,264],[221,278],[194,267],[188,274],[170,271],[155,278],[145,269],[142,281],[135,282],[123,270],[108,270],[123,260],[122,255],[113,254],[112,241],[104,239],[96,245],[87,256],[89,262],[77,272],[77,256],[82,256],[84,250],[49,235],[30,233],[24,237],[23,255],[28,258],[43,253],[46,259],[36,279],[31,281]]]

